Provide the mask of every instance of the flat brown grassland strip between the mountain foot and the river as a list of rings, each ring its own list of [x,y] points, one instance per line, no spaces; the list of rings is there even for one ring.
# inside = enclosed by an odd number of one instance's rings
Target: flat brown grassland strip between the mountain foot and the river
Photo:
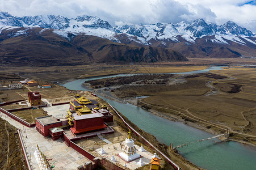
[[[0,66],[0,74],[18,74],[22,78],[31,78],[41,81],[64,82],[65,80],[87,78],[91,76],[115,75],[115,74],[133,74],[133,73],[178,73],[183,71],[202,70],[207,66],[189,65],[183,63],[137,63],[132,65],[79,65],[79,66],[51,66],[51,67],[10,67]]]

